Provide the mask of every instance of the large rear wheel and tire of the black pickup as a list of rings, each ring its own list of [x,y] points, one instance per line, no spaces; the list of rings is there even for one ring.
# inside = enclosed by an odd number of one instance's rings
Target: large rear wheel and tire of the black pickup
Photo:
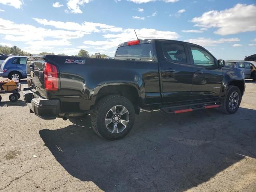
[[[91,115],[93,130],[106,140],[124,138],[132,129],[135,121],[134,106],[127,98],[119,95],[102,98]]]

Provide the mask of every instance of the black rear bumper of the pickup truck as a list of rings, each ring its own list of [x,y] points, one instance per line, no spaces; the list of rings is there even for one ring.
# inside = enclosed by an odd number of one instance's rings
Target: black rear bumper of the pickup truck
[[[60,100],[48,100],[41,98],[36,93],[24,88],[22,92],[26,105],[30,112],[34,112],[42,119],[56,119],[60,113]]]

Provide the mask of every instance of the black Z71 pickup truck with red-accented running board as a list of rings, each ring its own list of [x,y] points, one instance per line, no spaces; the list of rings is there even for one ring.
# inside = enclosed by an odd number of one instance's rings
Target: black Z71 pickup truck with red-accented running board
[[[140,109],[166,113],[219,108],[235,113],[245,90],[244,73],[225,66],[202,46],[174,40],[124,42],[114,60],[32,56],[23,95],[42,119],[91,114],[102,138],[123,138]]]

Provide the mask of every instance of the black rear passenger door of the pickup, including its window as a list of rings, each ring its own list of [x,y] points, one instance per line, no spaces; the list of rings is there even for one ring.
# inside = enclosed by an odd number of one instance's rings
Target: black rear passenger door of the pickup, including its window
[[[186,44],[182,42],[158,42],[158,57],[162,75],[162,102],[178,105],[190,100],[193,69],[189,62]]]

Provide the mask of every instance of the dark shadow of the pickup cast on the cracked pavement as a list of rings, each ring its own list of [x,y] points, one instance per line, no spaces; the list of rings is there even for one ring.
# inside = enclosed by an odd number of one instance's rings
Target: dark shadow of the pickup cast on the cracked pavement
[[[57,130],[40,130],[72,176],[104,191],[177,191],[197,186],[245,158],[256,157],[256,110],[166,115],[143,111],[118,141],[94,134],[90,116]]]

